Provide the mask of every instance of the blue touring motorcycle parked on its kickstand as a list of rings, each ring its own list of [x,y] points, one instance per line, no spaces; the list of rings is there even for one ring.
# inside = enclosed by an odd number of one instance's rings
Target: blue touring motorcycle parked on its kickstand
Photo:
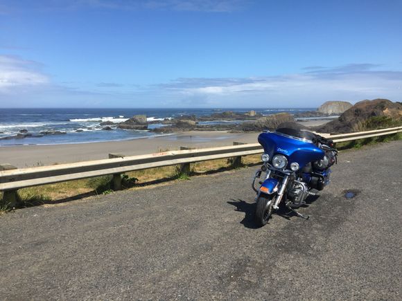
[[[338,155],[333,141],[311,131],[291,128],[264,131],[258,140],[264,153],[263,165],[252,181],[257,194],[257,226],[267,224],[279,206],[286,206],[299,217],[308,219],[294,209],[306,204],[309,195],[317,194],[329,184],[330,167]],[[256,179],[261,184],[259,189]]]

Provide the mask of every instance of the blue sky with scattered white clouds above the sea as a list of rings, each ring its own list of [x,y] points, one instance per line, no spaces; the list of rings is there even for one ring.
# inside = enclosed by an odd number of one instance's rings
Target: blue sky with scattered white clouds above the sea
[[[402,101],[402,0],[0,0],[0,108]]]

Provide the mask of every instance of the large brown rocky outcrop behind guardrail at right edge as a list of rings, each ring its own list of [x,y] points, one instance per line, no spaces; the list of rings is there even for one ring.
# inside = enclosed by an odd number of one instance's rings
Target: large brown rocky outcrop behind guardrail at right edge
[[[402,120],[402,104],[387,99],[362,100],[344,111],[337,120],[328,122],[315,130],[321,133],[349,133],[365,130],[365,122],[380,116],[390,120]]]

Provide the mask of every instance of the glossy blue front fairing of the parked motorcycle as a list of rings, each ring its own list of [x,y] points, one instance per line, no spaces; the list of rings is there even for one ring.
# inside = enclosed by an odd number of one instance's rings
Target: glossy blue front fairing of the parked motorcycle
[[[297,162],[300,168],[309,162],[324,158],[324,151],[313,143],[276,133],[261,133],[259,143],[263,146],[264,152],[270,155],[270,158],[275,154],[283,154],[288,158],[288,164]]]

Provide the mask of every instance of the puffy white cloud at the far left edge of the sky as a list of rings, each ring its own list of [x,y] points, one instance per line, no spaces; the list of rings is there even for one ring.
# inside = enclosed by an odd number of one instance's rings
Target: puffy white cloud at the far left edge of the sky
[[[19,89],[48,83],[49,77],[40,71],[37,62],[0,55],[0,93],[17,93]]]

